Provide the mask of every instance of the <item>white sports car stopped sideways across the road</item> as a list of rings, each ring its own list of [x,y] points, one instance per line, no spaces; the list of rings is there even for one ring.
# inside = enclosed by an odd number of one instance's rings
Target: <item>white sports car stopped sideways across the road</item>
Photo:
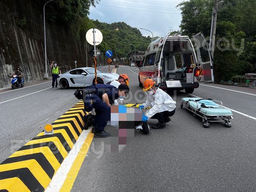
[[[95,82],[95,69],[93,67],[81,67],[59,76],[57,83],[62,89],[67,89],[68,87],[84,87]],[[97,83],[106,84],[109,81],[118,79],[118,77],[119,75],[116,73],[102,73],[97,70]]]

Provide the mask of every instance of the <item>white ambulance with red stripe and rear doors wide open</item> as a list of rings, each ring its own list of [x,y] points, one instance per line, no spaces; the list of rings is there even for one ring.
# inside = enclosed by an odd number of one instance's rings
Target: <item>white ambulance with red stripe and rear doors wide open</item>
[[[193,93],[199,82],[213,83],[213,63],[203,33],[161,37],[149,44],[139,72],[139,86],[151,78],[163,90]]]

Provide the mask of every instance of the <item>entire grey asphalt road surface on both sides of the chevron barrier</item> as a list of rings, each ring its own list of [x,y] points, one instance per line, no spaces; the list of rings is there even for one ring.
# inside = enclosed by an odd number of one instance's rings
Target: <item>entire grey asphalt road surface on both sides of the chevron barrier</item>
[[[100,68],[108,72],[108,67]],[[145,100],[138,71],[136,67],[117,69],[130,77],[132,96],[125,102]],[[200,85],[193,95],[220,100],[225,107],[256,117],[256,90],[207,85],[214,87]],[[0,91],[0,162],[78,102],[73,96],[76,89],[50,87],[51,82],[44,82]],[[106,138],[94,138],[72,191],[256,190],[256,120],[233,112],[232,128],[211,123],[206,129],[201,119],[179,108],[181,98],[192,95],[175,92],[172,97],[177,108],[166,128],[151,129],[149,135],[135,132],[127,146],[115,153],[105,150]],[[113,133],[115,128],[106,130]]]

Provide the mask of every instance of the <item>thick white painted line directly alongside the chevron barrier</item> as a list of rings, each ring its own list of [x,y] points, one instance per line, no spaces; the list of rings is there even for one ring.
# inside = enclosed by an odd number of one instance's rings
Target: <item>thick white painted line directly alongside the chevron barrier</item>
[[[52,177],[52,181],[50,182],[45,192],[56,192],[61,189],[64,181],[66,180],[67,174],[70,171],[70,168],[73,165],[76,159],[76,156],[78,155],[84,143],[84,140],[86,139],[89,132],[90,132],[90,129],[82,131],[75,145],[73,146],[73,148],[71,149],[67,157],[61,163],[61,166],[56,172],[56,174]]]

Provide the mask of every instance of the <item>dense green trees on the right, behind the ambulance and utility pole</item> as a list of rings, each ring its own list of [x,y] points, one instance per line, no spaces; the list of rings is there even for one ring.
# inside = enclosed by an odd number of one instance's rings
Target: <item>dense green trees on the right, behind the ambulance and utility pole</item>
[[[180,33],[200,31],[209,39],[215,0],[180,3]],[[224,0],[218,7],[215,52],[215,81],[238,81],[245,73],[256,73],[256,1]]]

